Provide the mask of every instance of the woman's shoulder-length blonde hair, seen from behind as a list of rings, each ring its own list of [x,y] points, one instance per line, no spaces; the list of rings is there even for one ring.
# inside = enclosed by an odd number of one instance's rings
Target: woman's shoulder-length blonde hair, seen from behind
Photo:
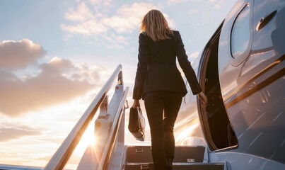
[[[149,11],[144,16],[141,21],[141,32],[146,33],[153,41],[170,39],[170,35],[173,34],[163,13],[156,9]]]

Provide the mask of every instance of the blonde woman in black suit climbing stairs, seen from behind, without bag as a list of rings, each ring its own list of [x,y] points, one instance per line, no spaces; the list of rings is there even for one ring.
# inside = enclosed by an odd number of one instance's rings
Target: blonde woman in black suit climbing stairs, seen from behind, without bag
[[[132,107],[140,106],[139,99],[144,99],[156,170],[172,169],[175,149],[173,127],[182,97],[187,94],[185,83],[176,66],[176,57],[190,83],[192,93],[198,94],[203,106],[206,106],[207,97],[188,61],[180,33],[168,27],[161,11],[149,11],[141,21],[139,62]]]

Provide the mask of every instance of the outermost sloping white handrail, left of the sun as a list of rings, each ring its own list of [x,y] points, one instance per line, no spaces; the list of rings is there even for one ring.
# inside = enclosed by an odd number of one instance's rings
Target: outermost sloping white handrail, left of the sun
[[[88,106],[88,108],[78,120],[78,122],[71,130],[69,135],[66,137],[64,142],[62,142],[62,145],[59,147],[59,149],[57,149],[57,152],[55,152],[52,159],[50,159],[50,162],[47,163],[44,170],[59,170],[64,168],[66,162],[69,160],[69,157],[74,152],[76,145],[81,140],[81,137],[86,131],[86,128],[88,127],[89,123],[91,123],[91,120],[93,120],[93,117],[97,112],[98,108],[100,107],[100,104],[102,103],[103,99],[107,95],[107,92],[112,87],[115,78],[119,74],[122,75],[121,64],[117,66],[117,69],[115,69],[115,71],[107,80],[103,88],[99,91],[97,96],[95,96],[90,106]],[[117,79],[117,81],[118,83],[122,84],[122,79],[119,78]]]

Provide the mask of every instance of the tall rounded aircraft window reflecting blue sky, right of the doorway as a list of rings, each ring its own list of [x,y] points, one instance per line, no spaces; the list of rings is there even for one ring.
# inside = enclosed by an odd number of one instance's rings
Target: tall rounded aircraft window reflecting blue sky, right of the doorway
[[[243,56],[250,43],[250,5],[238,14],[231,32],[231,55],[233,58]],[[248,54],[246,54],[248,55]]]

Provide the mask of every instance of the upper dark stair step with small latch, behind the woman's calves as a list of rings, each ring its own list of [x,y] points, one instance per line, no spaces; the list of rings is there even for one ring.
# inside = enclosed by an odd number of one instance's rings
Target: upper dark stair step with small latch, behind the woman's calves
[[[203,162],[205,147],[175,147],[173,162]],[[127,146],[127,163],[151,163],[151,146]]]

